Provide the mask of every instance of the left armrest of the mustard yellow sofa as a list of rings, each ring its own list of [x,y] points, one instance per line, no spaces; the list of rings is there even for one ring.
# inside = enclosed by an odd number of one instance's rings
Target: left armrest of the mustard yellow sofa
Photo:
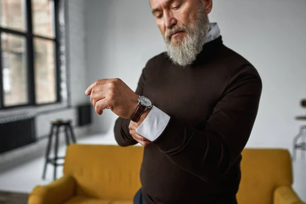
[[[28,204],[62,204],[75,194],[75,180],[64,175],[46,185],[36,186],[29,195]]]

